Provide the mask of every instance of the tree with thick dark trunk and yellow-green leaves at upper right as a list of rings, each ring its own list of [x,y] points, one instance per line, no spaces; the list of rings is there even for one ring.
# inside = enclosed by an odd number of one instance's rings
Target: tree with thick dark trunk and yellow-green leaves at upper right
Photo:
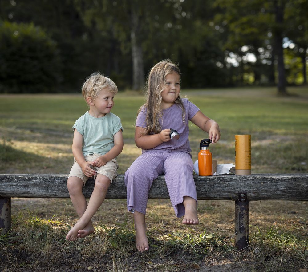
[[[291,3],[290,0],[216,1],[216,5],[223,9],[219,14],[220,18],[225,18],[229,25],[230,45],[249,45],[254,48],[256,44],[261,46],[262,43],[266,45],[266,41],[270,42],[272,53],[277,59],[277,85],[280,95],[287,94],[282,43],[288,32],[285,14]],[[252,38],[255,40],[253,41]]]

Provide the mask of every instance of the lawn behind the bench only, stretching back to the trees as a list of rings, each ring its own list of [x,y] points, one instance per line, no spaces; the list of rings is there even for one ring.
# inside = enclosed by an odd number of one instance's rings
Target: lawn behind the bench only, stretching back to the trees
[[[183,90],[182,96],[220,125],[221,140],[210,147],[218,163],[234,163],[234,135],[251,134],[253,173],[305,172],[308,94],[303,87],[290,88],[290,92],[296,96],[277,97],[274,88]],[[0,171],[67,173],[72,160],[71,127],[87,111],[81,95],[0,97]],[[143,96],[132,92],[115,97],[112,112],[122,120],[125,140],[119,155],[120,173],[140,154],[134,144],[134,121],[143,101]],[[193,160],[197,160],[200,140],[206,137],[191,124]],[[32,158],[31,167],[24,164],[25,157]]]

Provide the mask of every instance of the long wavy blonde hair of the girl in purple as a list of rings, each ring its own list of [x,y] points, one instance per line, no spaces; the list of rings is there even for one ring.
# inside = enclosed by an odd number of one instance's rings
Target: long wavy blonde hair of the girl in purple
[[[137,112],[144,109],[146,110],[146,118],[144,128],[144,135],[149,135],[152,133],[160,133],[161,125],[159,120],[162,120],[162,98],[161,92],[166,88],[166,76],[170,73],[177,73],[180,75],[180,69],[177,65],[173,64],[170,60],[162,60],[151,69],[148,79],[147,79],[147,89],[146,89],[146,102],[140,107]],[[185,123],[185,112],[184,106],[181,101],[180,96],[177,97],[174,103],[179,104],[183,111],[183,122]]]

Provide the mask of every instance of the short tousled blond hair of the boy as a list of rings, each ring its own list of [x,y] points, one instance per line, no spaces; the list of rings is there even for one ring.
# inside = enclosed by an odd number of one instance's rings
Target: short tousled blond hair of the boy
[[[95,72],[85,79],[81,93],[87,101],[87,97],[95,99],[102,89],[107,89],[113,95],[118,93],[118,87],[110,78],[105,77],[102,73]]]

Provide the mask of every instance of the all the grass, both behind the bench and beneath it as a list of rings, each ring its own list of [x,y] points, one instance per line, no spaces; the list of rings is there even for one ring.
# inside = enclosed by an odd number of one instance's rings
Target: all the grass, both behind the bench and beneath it
[[[210,147],[218,163],[234,163],[234,135],[252,135],[253,173],[307,172],[308,93],[290,88],[184,90],[217,120],[221,140]],[[124,126],[119,173],[141,151],[134,144],[134,120],[143,97],[115,97],[113,112]],[[1,95],[0,172],[68,173],[72,125],[87,110],[80,95]],[[193,160],[206,133],[193,124]],[[65,235],[76,222],[69,199],[12,199],[12,228],[0,235],[2,271],[298,271],[307,268],[307,202],[252,201],[249,250],[233,246],[234,203],[199,201],[200,225],[185,227],[169,200],[150,199],[150,250],[135,250],[135,232],[125,199],[106,199],[93,217],[95,233],[76,242]],[[206,231],[205,231],[206,230]]]

